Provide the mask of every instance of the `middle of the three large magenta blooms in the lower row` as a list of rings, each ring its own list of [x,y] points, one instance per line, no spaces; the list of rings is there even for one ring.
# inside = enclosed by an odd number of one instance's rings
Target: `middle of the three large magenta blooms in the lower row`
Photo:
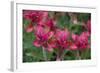
[[[55,34],[57,47],[60,49],[68,48],[69,32],[68,30],[58,29]]]

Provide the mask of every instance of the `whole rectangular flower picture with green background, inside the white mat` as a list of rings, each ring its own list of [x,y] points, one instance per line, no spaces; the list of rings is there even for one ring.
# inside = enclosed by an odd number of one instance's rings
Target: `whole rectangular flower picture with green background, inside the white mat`
[[[91,14],[23,10],[23,62],[91,59]]]

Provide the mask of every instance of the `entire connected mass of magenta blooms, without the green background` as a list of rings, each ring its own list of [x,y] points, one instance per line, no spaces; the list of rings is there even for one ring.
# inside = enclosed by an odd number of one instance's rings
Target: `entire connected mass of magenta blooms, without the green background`
[[[30,23],[25,27],[26,32],[34,32],[36,39],[33,45],[52,52],[54,49],[83,50],[90,48],[91,21],[88,20],[86,31],[81,34],[70,32],[67,28],[60,28],[57,21],[49,16],[47,11],[24,10],[23,18]]]

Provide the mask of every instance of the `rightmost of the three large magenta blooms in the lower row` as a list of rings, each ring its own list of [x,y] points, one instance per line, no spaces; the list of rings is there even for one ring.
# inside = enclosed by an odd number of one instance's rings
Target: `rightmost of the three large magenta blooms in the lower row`
[[[83,32],[80,35],[72,34],[72,40],[73,43],[70,46],[70,49],[72,50],[78,50],[78,49],[86,49],[90,48],[89,45],[89,33]]]

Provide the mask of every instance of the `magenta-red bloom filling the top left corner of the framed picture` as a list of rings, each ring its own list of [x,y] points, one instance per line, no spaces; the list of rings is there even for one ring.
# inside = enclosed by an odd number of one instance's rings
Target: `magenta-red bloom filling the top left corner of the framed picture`
[[[48,12],[46,11],[34,11],[34,10],[24,10],[23,17],[32,23],[40,24],[44,22],[48,17]]]

